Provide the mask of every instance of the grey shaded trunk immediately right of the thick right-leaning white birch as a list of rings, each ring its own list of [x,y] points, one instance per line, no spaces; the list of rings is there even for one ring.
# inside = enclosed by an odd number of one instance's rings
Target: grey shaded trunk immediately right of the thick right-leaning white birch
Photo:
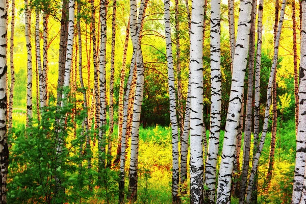
[[[251,133],[252,133],[252,102],[253,102],[253,75],[254,75],[254,53],[255,53],[255,24],[257,0],[253,0],[251,15],[251,29],[249,40],[249,62],[248,62],[248,82],[247,82],[247,98],[246,98],[246,118],[244,124],[243,139],[243,167],[241,173],[241,182],[239,189],[239,203],[244,203],[247,174],[250,162]]]

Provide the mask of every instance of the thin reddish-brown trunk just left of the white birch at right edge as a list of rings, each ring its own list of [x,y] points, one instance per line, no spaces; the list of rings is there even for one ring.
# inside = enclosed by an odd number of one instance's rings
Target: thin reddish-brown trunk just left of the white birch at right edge
[[[292,1],[292,29],[293,29],[294,98],[295,98],[295,135],[297,135],[298,105],[299,104],[298,104],[298,73],[297,73],[295,1]]]

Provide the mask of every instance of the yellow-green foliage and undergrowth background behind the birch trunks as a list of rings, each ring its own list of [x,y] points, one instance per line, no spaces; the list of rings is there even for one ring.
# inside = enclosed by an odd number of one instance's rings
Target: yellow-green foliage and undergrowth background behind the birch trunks
[[[93,185],[96,188],[90,190],[86,188],[88,176],[98,177],[97,169],[97,139],[94,130],[94,67],[92,52],[92,7],[91,2],[77,2],[76,8],[80,6],[80,10],[75,10],[75,19],[80,19],[80,28],[82,35],[82,73],[83,82],[86,89],[86,98],[88,110],[84,112],[83,105],[83,89],[80,84],[80,72],[78,59],[78,38],[77,29],[75,29],[74,48],[72,54],[70,102],[64,108],[64,113],[69,112],[71,116],[70,123],[67,122],[65,129],[68,129],[66,136],[67,153],[65,157],[65,166],[62,169],[55,169],[53,166],[53,157],[51,149],[55,146],[55,141],[48,138],[45,129],[40,128],[43,120],[46,118],[60,117],[55,114],[56,104],[55,98],[58,91],[59,78],[59,53],[60,49],[60,28],[62,15],[62,2],[48,1],[49,8],[48,17],[48,44],[47,44],[47,90],[50,107],[49,112],[39,113],[39,90],[38,90],[38,70],[35,68],[35,8],[45,2],[32,1],[33,10],[31,14],[31,43],[32,43],[32,63],[33,63],[33,125],[27,125],[27,46],[25,39],[25,23],[24,23],[24,2],[15,0],[15,32],[14,32],[14,104],[13,104],[13,127],[9,136],[10,159],[8,173],[8,195],[9,203],[20,202],[48,202],[53,199],[54,187],[56,181],[52,180],[57,171],[63,171],[65,174],[65,195],[59,196],[58,199],[65,202],[80,203],[114,203],[118,200],[118,166],[116,164],[106,171],[106,180],[103,184]],[[93,1],[96,9],[96,28],[99,28],[99,7],[97,1]],[[277,1],[278,2],[278,1]],[[11,2],[9,2],[11,3]],[[138,5],[140,2],[138,2]],[[8,39],[11,36],[11,4],[8,4]],[[189,2],[191,5],[191,2]],[[206,6],[205,16],[205,35],[203,37],[203,114],[204,123],[207,128],[207,140],[209,138],[210,129],[210,105],[211,105],[211,71],[210,71],[210,1]],[[112,2],[107,4],[107,43],[106,43],[106,90],[107,105],[110,104],[110,79],[111,79],[111,56],[114,56],[114,130],[113,134],[109,134],[109,126],[106,127],[106,135],[110,135],[108,144],[113,142],[112,155],[113,160],[116,159],[118,145],[118,118],[119,118],[119,93],[120,93],[120,74],[122,68],[122,54],[124,50],[124,39],[126,29],[129,27],[129,1],[116,2],[116,37],[115,52],[112,50]],[[299,4],[296,2],[296,13],[300,12]],[[186,11],[185,2],[179,2],[179,13],[174,13],[174,2],[170,3],[171,13],[171,29],[173,33],[180,34],[181,49],[181,83],[182,83],[182,105],[185,107],[188,92],[188,73],[189,73],[189,22],[188,12]],[[227,2],[221,3],[221,72],[222,72],[222,109],[221,109],[221,138],[219,152],[222,151],[222,142],[224,128],[226,122],[226,111],[231,91],[231,51],[230,51],[230,35],[228,28],[228,7]],[[262,43],[262,66],[261,66],[261,89],[260,89],[260,130],[262,130],[266,91],[273,60],[274,52],[274,13],[275,1],[264,1],[263,15],[263,43]],[[42,19],[42,13],[39,14]],[[236,28],[239,16],[239,1],[235,2],[235,20]],[[175,30],[175,18],[180,21],[180,30]],[[296,15],[297,23],[297,47],[299,50],[300,26],[299,15]],[[292,194],[292,183],[294,176],[295,164],[295,89],[294,89],[294,50],[293,50],[293,19],[292,19],[292,1],[287,2],[285,10],[285,19],[279,47],[279,58],[276,74],[276,92],[277,92],[277,131],[275,139],[275,155],[273,173],[270,182],[266,182],[266,177],[270,163],[270,146],[271,134],[268,133],[263,153],[260,159],[258,169],[258,202],[259,203],[290,203]],[[99,36],[99,29],[96,29]],[[39,37],[42,39],[43,27],[40,23]],[[173,45],[175,45],[175,35],[172,36]],[[43,41],[40,41],[43,47]],[[169,94],[168,94],[168,77],[167,77],[167,55],[165,41],[165,25],[164,25],[164,4],[162,1],[150,0],[147,2],[145,17],[143,21],[143,30],[141,33],[141,45],[144,64],[144,96],[141,109],[140,131],[139,131],[139,184],[137,202],[139,203],[170,203],[171,197],[171,127],[169,114]],[[8,43],[8,53],[10,52],[10,42]],[[78,50],[78,51],[77,51]],[[41,51],[42,52],[42,51]],[[299,52],[298,52],[299,53]],[[173,46],[174,59],[175,46]],[[133,45],[129,41],[126,52],[126,69],[124,71],[125,84],[129,77],[133,55]],[[10,61],[8,57],[7,61]],[[299,63],[299,62],[298,62]],[[177,73],[175,72],[177,78]],[[246,74],[245,84],[247,84],[248,76]],[[10,87],[11,72],[8,69],[8,86]],[[176,82],[175,82],[176,83]],[[177,85],[177,84],[176,84]],[[8,89],[9,90],[9,89]],[[247,85],[244,92],[247,93]],[[245,97],[246,99],[246,97]],[[54,109],[53,109],[54,108]],[[185,108],[184,108],[185,109]],[[53,110],[53,111],[50,111]],[[109,109],[108,109],[109,110]],[[41,115],[40,115],[41,114]],[[39,117],[38,117],[39,115]],[[79,152],[82,138],[82,123],[84,115],[88,115],[89,124],[92,129],[85,133],[90,136],[90,146],[92,155],[92,169],[86,169],[87,162],[83,162],[82,170],[79,158],[87,159],[89,156],[86,152]],[[272,118],[272,111],[270,114]],[[109,117],[107,118],[109,124]],[[50,125],[50,124],[44,124]],[[32,127],[31,127],[32,126]],[[90,125],[89,125],[90,126]],[[271,131],[272,120],[269,123],[269,132]],[[46,127],[46,126],[45,126]],[[52,125],[48,126],[50,130],[55,129]],[[244,132],[244,131],[242,131]],[[45,134],[46,137],[39,137]],[[44,144],[44,148],[41,144]],[[83,144],[82,144],[83,145]],[[243,145],[242,145],[243,146]],[[243,147],[242,147],[243,148]],[[252,149],[252,148],[251,148]],[[126,172],[128,171],[130,150],[127,151]],[[219,154],[220,155],[220,154]],[[252,155],[252,152],[251,152]],[[46,159],[48,158],[48,159]],[[84,159],[83,158],[83,159]],[[241,152],[241,164],[242,164]],[[56,160],[56,159],[54,159]],[[218,159],[220,161],[220,158]],[[81,162],[82,163],[82,162]],[[240,170],[239,170],[240,171]],[[187,171],[189,172],[189,171]],[[96,174],[95,174],[96,173]],[[189,173],[188,173],[189,176]],[[127,176],[126,176],[127,177]],[[239,181],[239,179],[238,179]],[[183,203],[189,202],[189,184],[181,188],[186,191],[181,192],[181,200]],[[85,190],[86,189],[86,190]],[[238,202],[235,194],[232,197],[233,203]],[[51,202],[51,201],[50,201]]]

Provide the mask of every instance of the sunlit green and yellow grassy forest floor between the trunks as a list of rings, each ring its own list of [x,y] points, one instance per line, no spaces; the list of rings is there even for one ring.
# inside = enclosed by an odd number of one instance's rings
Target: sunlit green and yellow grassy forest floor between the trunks
[[[15,134],[24,131],[25,112],[14,110]],[[271,134],[267,135],[263,154],[260,159],[258,180],[259,203],[290,203],[292,193],[292,180],[295,160],[295,132],[294,121],[289,121],[279,127],[276,136],[276,148],[273,176],[270,184],[266,184],[266,175],[269,166],[269,151]],[[117,126],[114,132],[117,131]],[[209,131],[207,131],[207,139]],[[224,131],[221,131],[220,150],[222,150]],[[117,138],[114,138],[117,141]],[[242,140],[243,141],[243,140]],[[242,142],[243,143],[243,142]],[[112,154],[116,154],[116,142],[114,142]],[[97,148],[97,145],[95,147]],[[241,146],[243,148],[243,145]],[[172,166],[171,128],[158,124],[154,127],[140,128],[139,131],[139,162],[138,162],[138,200],[137,203],[172,203],[171,200],[171,166]],[[94,151],[94,150],[93,150]],[[130,150],[127,149],[126,172],[129,171]],[[251,152],[252,155],[252,152]],[[220,162],[220,157],[219,157]],[[242,154],[240,156],[242,164]],[[114,167],[118,171],[118,167]],[[125,189],[128,186],[128,173],[126,173]],[[117,184],[113,184],[113,191],[117,191]],[[189,192],[189,184],[183,188]],[[10,191],[10,189],[8,189]],[[189,203],[189,194],[181,195],[182,203]],[[117,202],[117,193],[113,193],[109,203]],[[101,197],[90,197],[80,200],[81,203],[107,203]],[[232,197],[232,203],[238,203],[238,199]]]

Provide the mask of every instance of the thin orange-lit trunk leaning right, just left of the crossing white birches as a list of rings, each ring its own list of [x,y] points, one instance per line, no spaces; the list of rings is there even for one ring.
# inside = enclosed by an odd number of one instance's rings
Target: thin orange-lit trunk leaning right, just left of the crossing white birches
[[[120,72],[120,87],[119,87],[119,99],[118,99],[118,146],[117,146],[117,156],[114,161],[114,164],[117,164],[120,159],[120,150],[121,150],[121,137],[122,137],[122,124],[123,124],[123,101],[124,101],[124,80],[125,80],[125,68],[126,68],[126,54],[127,54],[127,45],[129,44],[129,36],[130,36],[130,20],[127,23],[126,34],[124,40],[124,48],[123,48],[123,59],[122,59],[122,67]]]

